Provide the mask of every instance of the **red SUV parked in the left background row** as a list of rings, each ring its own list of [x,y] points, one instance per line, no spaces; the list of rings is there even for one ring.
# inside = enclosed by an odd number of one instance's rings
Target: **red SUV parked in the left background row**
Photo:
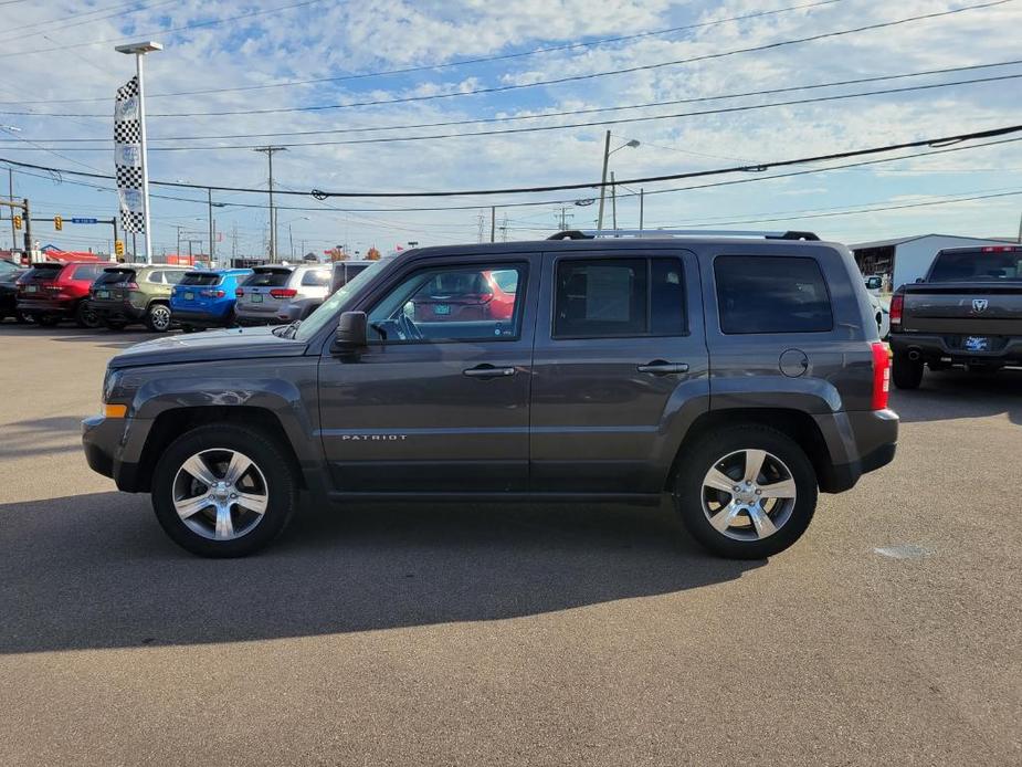
[[[18,281],[18,312],[40,325],[74,319],[80,327],[98,327],[99,318],[88,308],[88,287],[105,262],[32,264]]]

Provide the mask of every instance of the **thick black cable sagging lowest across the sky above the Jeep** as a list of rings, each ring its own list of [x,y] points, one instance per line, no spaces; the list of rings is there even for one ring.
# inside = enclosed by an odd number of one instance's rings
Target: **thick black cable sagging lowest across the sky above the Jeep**
[[[763,172],[770,168],[783,168],[794,165],[805,165],[809,162],[823,162],[829,160],[837,159],[849,159],[852,157],[863,157],[867,155],[877,155],[887,151],[897,151],[900,149],[912,149],[916,147],[946,147],[952,144],[960,144],[962,141],[971,141],[981,138],[995,138],[999,136],[1008,136],[1011,134],[1022,132],[1022,125],[1009,125],[1000,128],[990,128],[987,130],[976,130],[971,133],[957,134],[953,136],[944,136],[939,138],[923,138],[915,141],[903,141],[900,144],[887,144],[877,147],[868,147],[865,149],[850,149],[846,151],[836,151],[825,155],[814,155],[811,157],[801,157],[797,159],[788,160],[771,160],[768,162],[762,162],[759,165],[741,165],[733,166],[729,168],[714,168],[708,170],[693,170],[683,174],[665,174],[661,176],[644,176],[641,178],[629,178],[621,179],[618,183],[621,185],[639,185],[639,183],[653,183],[658,181],[674,181],[678,179],[687,178],[703,178],[708,176],[721,176],[727,174],[746,174],[746,172]],[[64,168],[51,168],[41,165],[34,165],[31,162],[20,162],[17,160],[11,160],[8,158],[0,158],[0,161],[8,162],[15,167],[21,168],[32,168],[35,170],[48,170],[55,171],[61,174],[67,174],[70,176],[80,176],[85,178],[101,178],[101,179],[113,179],[113,176],[106,174],[88,174],[81,170],[67,170]],[[244,189],[239,187],[221,187],[214,185],[202,185],[202,183],[188,183],[185,181],[150,181],[154,186],[162,187],[177,187],[180,189],[210,189],[213,191],[229,191],[229,192],[264,192],[263,189]],[[597,182],[582,182],[582,183],[558,183],[558,185],[546,185],[546,186],[535,186],[535,187],[508,187],[508,188],[498,188],[498,189],[471,189],[471,190],[450,190],[450,191],[405,191],[405,192],[354,192],[354,191],[323,191],[319,189],[313,189],[309,192],[302,192],[296,190],[282,190],[277,193],[288,195],[288,196],[302,196],[312,195],[317,200],[325,200],[330,197],[337,198],[438,198],[438,197],[477,197],[477,196],[494,196],[494,195],[530,195],[535,192],[547,192],[547,191],[568,191],[568,190],[579,190],[579,189],[598,189],[602,186],[610,186],[609,183]],[[652,192],[647,192],[652,193]]]

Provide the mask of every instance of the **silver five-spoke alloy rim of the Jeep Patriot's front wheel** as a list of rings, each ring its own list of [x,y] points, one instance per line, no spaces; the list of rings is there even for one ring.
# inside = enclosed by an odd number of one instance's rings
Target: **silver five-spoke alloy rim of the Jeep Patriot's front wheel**
[[[270,502],[262,470],[247,455],[228,448],[203,450],[185,461],[171,492],[181,522],[211,540],[234,540],[251,533]]]

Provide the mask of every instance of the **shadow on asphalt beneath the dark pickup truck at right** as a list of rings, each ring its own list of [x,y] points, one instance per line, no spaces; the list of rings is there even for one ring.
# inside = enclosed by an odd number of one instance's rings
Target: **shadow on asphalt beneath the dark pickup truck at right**
[[[918,389],[892,389],[891,407],[905,423],[1004,413],[1012,423],[1022,425],[1022,370],[927,370]]]

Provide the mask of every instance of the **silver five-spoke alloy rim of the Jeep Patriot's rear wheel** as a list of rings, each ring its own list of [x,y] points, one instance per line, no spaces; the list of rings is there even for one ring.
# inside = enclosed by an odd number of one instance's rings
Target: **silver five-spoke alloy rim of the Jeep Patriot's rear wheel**
[[[796,504],[791,470],[765,450],[738,450],[703,477],[703,513],[720,535],[761,540],[791,518]]]

